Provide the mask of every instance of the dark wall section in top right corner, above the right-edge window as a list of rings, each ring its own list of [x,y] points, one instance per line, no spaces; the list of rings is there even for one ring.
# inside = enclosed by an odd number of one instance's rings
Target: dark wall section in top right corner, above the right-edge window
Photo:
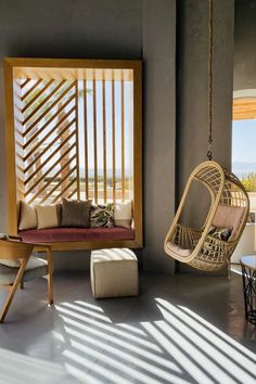
[[[235,0],[233,89],[256,89],[256,1]]]

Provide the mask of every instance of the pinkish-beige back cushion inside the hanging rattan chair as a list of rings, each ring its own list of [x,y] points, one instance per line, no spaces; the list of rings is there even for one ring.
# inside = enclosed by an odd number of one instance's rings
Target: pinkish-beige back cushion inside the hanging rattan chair
[[[228,205],[219,204],[214,220],[214,227],[220,228],[233,228],[229,241],[235,239],[238,230],[242,223],[245,208],[231,207]]]

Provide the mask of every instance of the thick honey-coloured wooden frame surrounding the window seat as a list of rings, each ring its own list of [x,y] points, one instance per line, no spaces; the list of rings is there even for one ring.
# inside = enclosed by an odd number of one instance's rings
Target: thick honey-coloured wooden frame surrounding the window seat
[[[9,232],[16,234],[18,223],[18,196],[15,161],[14,137],[14,102],[13,79],[14,71],[29,69],[43,71],[43,68],[59,68],[66,71],[72,76],[80,76],[82,71],[104,68],[112,73],[113,69],[132,69],[133,72],[133,220],[135,240],[129,241],[95,241],[95,242],[65,242],[52,243],[53,251],[64,249],[94,249],[100,247],[142,247],[142,63],[140,61],[118,60],[72,60],[72,59],[4,59],[4,91],[5,91],[5,152],[8,176],[8,212]],[[72,69],[71,69],[72,68]],[[92,73],[93,73],[92,71]],[[27,75],[28,76],[28,75]],[[69,75],[68,75],[69,76]],[[92,75],[93,76],[93,75]],[[95,76],[95,75],[94,75]],[[108,75],[107,75],[108,76]],[[110,75],[111,76],[111,75]],[[124,164],[124,158],[123,158]],[[16,202],[16,204],[15,204]]]

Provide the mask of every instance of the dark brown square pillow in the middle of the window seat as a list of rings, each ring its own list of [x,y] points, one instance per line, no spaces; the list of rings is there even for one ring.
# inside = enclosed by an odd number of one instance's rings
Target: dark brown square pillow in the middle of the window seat
[[[91,200],[85,202],[62,197],[62,227],[89,228]]]

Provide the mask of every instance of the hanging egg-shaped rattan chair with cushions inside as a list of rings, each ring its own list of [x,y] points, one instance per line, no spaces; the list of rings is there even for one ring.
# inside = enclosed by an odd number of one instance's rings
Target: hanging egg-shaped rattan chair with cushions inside
[[[193,181],[205,185],[212,204],[201,229],[180,223],[188,193]],[[200,164],[185,185],[172,225],[165,239],[165,252],[176,260],[215,271],[227,266],[248,218],[249,201],[241,181],[218,163]],[[228,240],[213,234],[213,229],[229,229]]]

